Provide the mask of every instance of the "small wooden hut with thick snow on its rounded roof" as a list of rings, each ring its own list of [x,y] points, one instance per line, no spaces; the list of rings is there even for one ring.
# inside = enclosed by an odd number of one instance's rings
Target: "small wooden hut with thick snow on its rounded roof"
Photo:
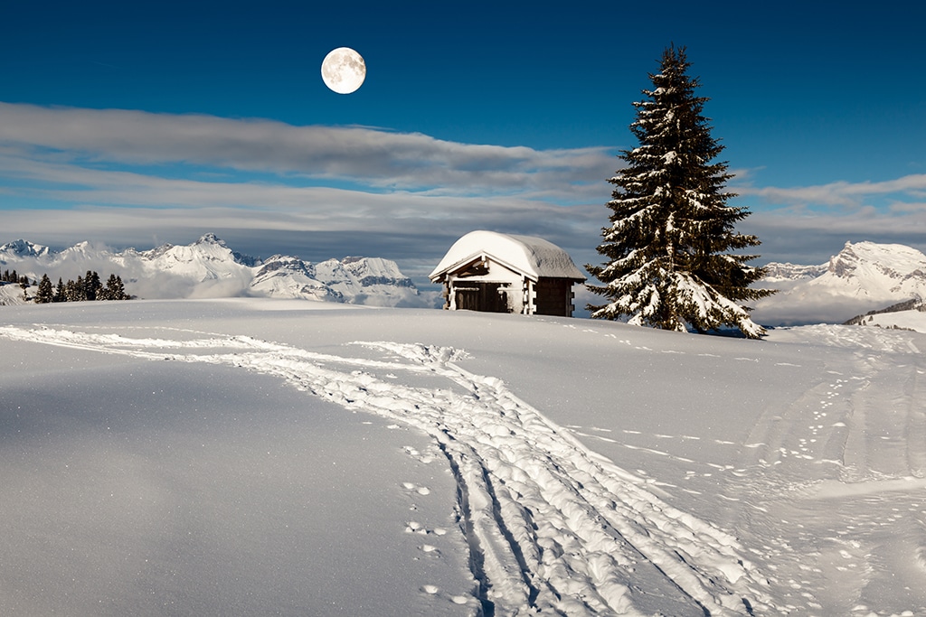
[[[585,280],[569,254],[531,236],[470,231],[430,276],[444,309],[572,316],[572,285]]]

